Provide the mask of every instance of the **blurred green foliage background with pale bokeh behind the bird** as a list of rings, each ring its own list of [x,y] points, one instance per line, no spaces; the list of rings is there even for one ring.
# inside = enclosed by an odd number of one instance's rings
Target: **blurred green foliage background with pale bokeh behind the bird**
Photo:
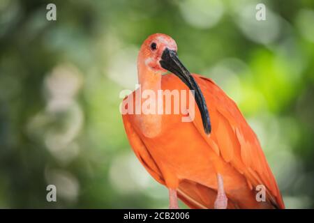
[[[52,2],[57,21],[46,20]],[[156,32],[237,102],[287,208],[314,208],[312,0],[0,0],[0,208],[167,208],[119,113]]]

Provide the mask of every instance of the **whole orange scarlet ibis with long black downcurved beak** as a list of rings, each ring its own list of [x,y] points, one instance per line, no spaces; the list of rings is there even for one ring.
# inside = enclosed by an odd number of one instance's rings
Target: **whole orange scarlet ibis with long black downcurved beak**
[[[142,165],[168,188],[170,208],[178,208],[178,197],[190,208],[285,208],[260,143],[237,105],[211,79],[190,74],[170,36],[156,33],[144,41],[137,70],[140,88],[121,107],[128,111],[122,115],[124,127]],[[192,92],[194,97],[181,113],[173,112],[174,100],[165,112],[165,94],[155,101],[149,97],[170,91],[175,98],[175,91],[184,90],[186,98]],[[184,93],[178,95],[181,102]],[[150,112],[143,112],[149,98]]]

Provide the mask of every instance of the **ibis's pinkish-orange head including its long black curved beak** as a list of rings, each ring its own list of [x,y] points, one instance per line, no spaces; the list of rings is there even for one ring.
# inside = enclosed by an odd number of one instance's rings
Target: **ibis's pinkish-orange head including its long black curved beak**
[[[202,116],[204,131],[206,134],[211,132],[209,112],[204,95],[194,77],[179,60],[177,43],[170,36],[163,33],[155,33],[149,36],[140,49],[138,65],[139,68],[144,66],[145,69],[148,68],[155,74],[170,71],[179,77],[190,90],[194,91],[195,101]]]

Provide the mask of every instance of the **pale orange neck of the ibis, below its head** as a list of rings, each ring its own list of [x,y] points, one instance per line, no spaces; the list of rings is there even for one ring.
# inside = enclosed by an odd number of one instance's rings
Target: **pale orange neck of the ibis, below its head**
[[[141,87],[141,95],[138,102],[141,106],[141,114],[137,116],[140,121],[140,129],[146,137],[156,137],[161,131],[161,114],[158,114],[158,105],[163,99],[158,97],[161,89],[161,72],[154,72],[149,68],[138,69],[138,79]]]

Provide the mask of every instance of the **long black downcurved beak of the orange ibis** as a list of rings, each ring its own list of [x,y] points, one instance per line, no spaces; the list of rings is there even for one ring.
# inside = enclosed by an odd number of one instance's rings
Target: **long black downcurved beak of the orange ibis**
[[[204,131],[206,132],[206,134],[211,133],[211,121],[209,119],[209,112],[204,99],[204,95],[202,94],[202,91],[200,90],[197,82],[195,82],[193,76],[190,75],[190,72],[184,67],[181,61],[179,61],[177,52],[166,48],[163,51],[163,55],[161,56],[161,60],[159,63],[162,68],[169,70],[174,75],[177,75],[177,77],[179,77],[190,90],[195,92],[194,97],[197,107],[198,109],[200,109]]]

